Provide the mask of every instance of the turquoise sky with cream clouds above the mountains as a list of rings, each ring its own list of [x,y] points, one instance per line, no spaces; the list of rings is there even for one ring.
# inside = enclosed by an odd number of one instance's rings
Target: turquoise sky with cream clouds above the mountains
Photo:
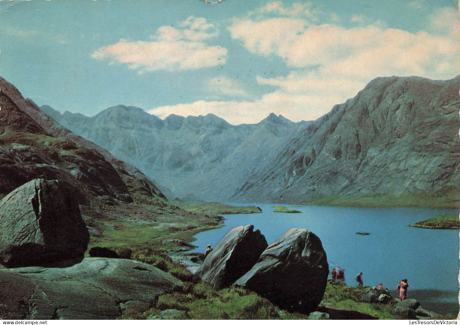
[[[315,120],[381,76],[460,74],[456,0],[0,0],[0,76],[37,103]]]

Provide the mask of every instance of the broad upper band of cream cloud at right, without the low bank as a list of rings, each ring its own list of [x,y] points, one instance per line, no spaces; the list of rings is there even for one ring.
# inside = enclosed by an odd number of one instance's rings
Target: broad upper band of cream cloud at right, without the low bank
[[[290,18],[236,21],[229,30],[253,53],[280,56],[290,67],[315,67],[331,76],[450,78],[459,71],[456,40],[439,34],[413,34],[378,24],[347,29]],[[446,68],[440,68],[440,62],[447,63]]]

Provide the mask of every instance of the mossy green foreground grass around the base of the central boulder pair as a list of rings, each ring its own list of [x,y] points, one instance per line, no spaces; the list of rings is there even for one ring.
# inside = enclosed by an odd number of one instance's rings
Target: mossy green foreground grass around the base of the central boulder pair
[[[282,310],[269,300],[259,297],[247,289],[231,286],[216,290],[207,283],[187,273],[183,266],[175,264],[166,255],[147,252],[136,256],[139,260],[156,265],[185,281],[183,290],[162,295],[155,306],[145,312],[125,313],[121,319],[161,319],[164,310],[175,310],[169,319],[308,319],[309,314]],[[328,281],[319,311],[334,314],[372,316],[378,319],[403,319],[395,314],[393,303],[363,303],[361,296],[367,290],[347,286],[340,282]],[[180,311],[180,312],[177,312]],[[449,319],[454,316],[448,316]],[[338,318],[341,319],[341,318]]]

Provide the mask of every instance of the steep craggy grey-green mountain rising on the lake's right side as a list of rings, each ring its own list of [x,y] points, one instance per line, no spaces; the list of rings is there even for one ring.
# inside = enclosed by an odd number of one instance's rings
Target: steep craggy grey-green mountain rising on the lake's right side
[[[232,197],[459,193],[460,76],[376,78],[295,134]]]

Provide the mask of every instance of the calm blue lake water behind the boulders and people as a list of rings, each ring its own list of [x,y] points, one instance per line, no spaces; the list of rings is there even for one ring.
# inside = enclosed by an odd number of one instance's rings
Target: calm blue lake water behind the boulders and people
[[[197,234],[194,251],[204,252],[207,244],[215,247],[230,229],[240,225],[254,224],[269,245],[291,228],[305,228],[321,239],[329,269],[336,265],[345,269],[347,284],[355,286],[359,272],[363,272],[365,286],[382,282],[389,289],[396,289],[399,281],[407,278],[408,297],[411,290],[447,291],[448,297],[443,299],[453,302],[458,311],[459,231],[407,225],[445,213],[458,215],[459,211],[295,206],[302,213],[274,213],[273,204],[256,205],[262,213],[225,215],[224,227]]]

